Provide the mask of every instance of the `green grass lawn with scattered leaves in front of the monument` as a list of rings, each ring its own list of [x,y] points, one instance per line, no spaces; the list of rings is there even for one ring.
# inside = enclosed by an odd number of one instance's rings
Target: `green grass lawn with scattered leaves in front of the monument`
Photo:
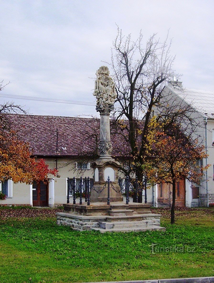
[[[57,226],[52,216],[3,218],[0,282],[213,276],[214,210],[176,211],[175,225],[169,224],[168,211],[155,210],[160,211],[166,232],[101,234]]]

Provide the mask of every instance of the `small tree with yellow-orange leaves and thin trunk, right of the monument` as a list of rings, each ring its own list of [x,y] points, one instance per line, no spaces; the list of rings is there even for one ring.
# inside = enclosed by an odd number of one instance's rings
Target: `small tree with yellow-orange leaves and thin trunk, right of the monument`
[[[147,135],[147,175],[151,184],[172,184],[171,224],[175,222],[176,183],[183,178],[200,185],[204,170],[200,160],[206,158],[204,146],[193,139],[193,133],[184,134],[181,125],[166,119],[150,121]]]

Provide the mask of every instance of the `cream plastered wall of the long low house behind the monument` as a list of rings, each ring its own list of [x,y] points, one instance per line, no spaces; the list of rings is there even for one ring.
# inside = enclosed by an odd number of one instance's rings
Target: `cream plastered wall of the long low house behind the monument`
[[[58,168],[58,177],[50,175],[49,178],[51,182],[49,183],[49,193],[48,193],[48,205],[50,207],[57,207],[67,202],[67,178],[80,178],[82,173],[82,177],[90,177],[93,178],[93,169],[87,169],[84,172],[81,170],[76,170],[75,168],[75,159],[64,159],[58,158],[57,160],[57,168]],[[46,158],[46,164],[49,165],[49,168],[55,168],[56,162],[55,158]],[[59,177],[60,176],[60,177]],[[120,175],[121,178],[124,178],[123,175]],[[6,198],[6,200],[0,200],[0,205],[32,205],[32,185],[26,184],[12,184],[12,198]],[[144,194],[144,192],[143,192]],[[70,197],[70,203],[73,202],[73,198]],[[143,203],[144,203],[144,195],[143,195]],[[148,186],[147,189],[147,203],[153,203],[153,190]]]

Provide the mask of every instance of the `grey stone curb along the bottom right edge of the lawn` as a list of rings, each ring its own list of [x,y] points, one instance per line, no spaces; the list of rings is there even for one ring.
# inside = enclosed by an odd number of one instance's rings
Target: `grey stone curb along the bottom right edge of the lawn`
[[[133,280],[133,281],[104,281],[88,283],[213,283],[213,277],[193,277],[193,278],[171,278],[171,279],[152,279],[152,280]]]

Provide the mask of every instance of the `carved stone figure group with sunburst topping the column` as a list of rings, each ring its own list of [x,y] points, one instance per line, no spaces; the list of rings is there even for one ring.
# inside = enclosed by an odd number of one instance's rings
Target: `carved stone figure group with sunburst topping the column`
[[[113,109],[114,100],[117,95],[115,92],[115,83],[113,79],[109,76],[109,68],[106,66],[101,66],[97,72],[97,79],[95,81],[94,93],[93,95],[97,98],[97,111],[109,108]]]

